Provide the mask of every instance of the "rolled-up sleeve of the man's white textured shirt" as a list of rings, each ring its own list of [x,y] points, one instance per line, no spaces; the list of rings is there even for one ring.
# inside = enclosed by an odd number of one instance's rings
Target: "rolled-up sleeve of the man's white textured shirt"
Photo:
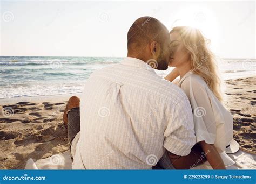
[[[173,154],[188,155],[196,143],[190,103],[184,96],[170,109],[172,114],[164,132],[164,147]]]

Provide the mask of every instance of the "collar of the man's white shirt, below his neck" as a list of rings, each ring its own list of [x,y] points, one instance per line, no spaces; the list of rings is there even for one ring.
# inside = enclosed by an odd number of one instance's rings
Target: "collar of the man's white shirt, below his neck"
[[[154,69],[150,65],[147,65],[146,62],[144,62],[140,59],[137,59],[137,58],[127,57],[127,58],[124,58],[120,63],[122,65],[128,65],[128,66],[133,66],[133,67],[137,67],[137,68],[143,68],[143,69],[154,72]],[[156,73],[156,72],[154,72],[154,73]]]

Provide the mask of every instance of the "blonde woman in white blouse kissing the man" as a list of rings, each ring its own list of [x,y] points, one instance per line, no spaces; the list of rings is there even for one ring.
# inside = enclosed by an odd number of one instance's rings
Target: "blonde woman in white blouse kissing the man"
[[[170,32],[171,60],[176,67],[165,77],[175,80],[190,100],[197,144],[213,169],[226,169],[235,162],[225,153],[233,138],[233,117],[223,104],[214,55],[198,29],[174,27]]]

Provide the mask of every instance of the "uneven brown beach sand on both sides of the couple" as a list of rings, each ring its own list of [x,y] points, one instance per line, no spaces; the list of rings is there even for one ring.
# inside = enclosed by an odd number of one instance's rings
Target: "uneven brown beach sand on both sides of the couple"
[[[256,77],[226,84],[225,106],[234,117],[234,139],[242,148],[256,151]],[[0,169],[24,169],[29,158],[43,159],[68,150],[62,116],[70,96],[0,101]]]

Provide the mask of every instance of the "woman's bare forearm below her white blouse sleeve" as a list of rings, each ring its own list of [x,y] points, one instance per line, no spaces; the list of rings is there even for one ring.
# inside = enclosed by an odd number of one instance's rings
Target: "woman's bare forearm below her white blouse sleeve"
[[[199,145],[203,149],[207,161],[211,164],[213,169],[226,169],[219,152],[213,144],[207,144],[205,141],[200,141]]]

